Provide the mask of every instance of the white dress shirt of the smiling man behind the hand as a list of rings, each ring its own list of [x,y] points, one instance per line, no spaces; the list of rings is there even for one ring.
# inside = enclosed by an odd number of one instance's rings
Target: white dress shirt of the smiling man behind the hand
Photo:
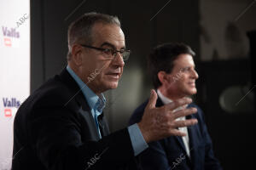
[[[160,93],[160,90],[157,89],[157,94],[158,96],[160,97],[160,99],[162,100],[163,104],[166,105],[166,104],[169,104],[172,102],[172,99],[169,99],[169,98],[166,98],[166,96],[164,96],[163,94]],[[178,107],[176,110],[173,110],[173,111],[179,111],[181,110],[183,107],[187,107],[188,105],[184,105],[184,106],[180,106]],[[183,121],[185,120],[186,117],[183,116],[183,117],[179,117],[176,119],[176,121]],[[185,149],[186,149],[186,152],[187,152],[187,155],[190,157],[190,150],[189,150],[189,133],[188,133],[188,128],[187,127],[178,127],[178,129],[180,131],[182,131],[183,133],[187,133],[186,136],[183,136],[182,139],[183,139],[183,144],[185,145]]]

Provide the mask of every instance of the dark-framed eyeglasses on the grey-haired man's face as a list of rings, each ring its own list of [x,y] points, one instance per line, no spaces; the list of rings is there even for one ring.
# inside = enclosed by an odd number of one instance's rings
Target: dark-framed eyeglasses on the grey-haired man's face
[[[84,44],[80,44],[80,45],[85,48],[93,48],[98,51],[101,51],[104,54],[104,57],[107,59],[114,59],[116,57],[117,53],[119,52],[119,54],[121,54],[123,60],[125,61],[125,60],[129,59],[129,56],[131,54],[131,51],[128,49],[116,50],[113,48],[96,48],[96,47],[92,47],[92,46],[84,45]]]

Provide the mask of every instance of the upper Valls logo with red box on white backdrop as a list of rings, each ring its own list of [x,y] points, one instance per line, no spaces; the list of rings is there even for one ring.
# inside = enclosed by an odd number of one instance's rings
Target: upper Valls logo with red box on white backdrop
[[[20,32],[16,31],[15,28],[9,28],[7,26],[2,26],[3,32],[3,44],[6,47],[12,47],[15,38],[20,38]]]

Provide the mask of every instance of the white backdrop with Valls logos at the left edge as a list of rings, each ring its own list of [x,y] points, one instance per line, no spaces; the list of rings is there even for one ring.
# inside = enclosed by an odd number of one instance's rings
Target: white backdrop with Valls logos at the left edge
[[[30,94],[30,1],[0,0],[0,169],[12,160],[13,122]]]

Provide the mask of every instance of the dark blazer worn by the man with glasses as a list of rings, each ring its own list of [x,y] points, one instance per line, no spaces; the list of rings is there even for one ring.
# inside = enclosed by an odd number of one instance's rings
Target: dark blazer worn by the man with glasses
[[[15,116],[13,170],[137,169],[127,128],[96,130],[84,95],[64,69],[20,105]]]

